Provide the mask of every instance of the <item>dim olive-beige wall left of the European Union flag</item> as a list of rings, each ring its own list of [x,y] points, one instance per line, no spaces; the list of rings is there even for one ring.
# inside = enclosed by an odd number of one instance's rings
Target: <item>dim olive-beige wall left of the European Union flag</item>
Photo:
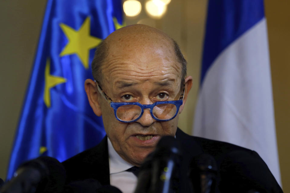
[[[6,177],[46,1],[0,1],[0,178]]]

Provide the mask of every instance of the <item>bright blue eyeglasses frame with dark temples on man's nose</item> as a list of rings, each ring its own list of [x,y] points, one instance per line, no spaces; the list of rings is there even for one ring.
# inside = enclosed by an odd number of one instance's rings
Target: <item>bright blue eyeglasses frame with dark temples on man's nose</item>
[[[183,84],[183,87],[182,87],[182,92],[180,93],[180,96],[179,96],[179,100],[169,100],[169,101],[157,101],[151,105],[142,105],[138,102],[122,102],[122,103],[118,103],[118,102],[113,102],[112,99],[104,92],[104,90],[101,88],[101,86],[98,84],[98,82],[96,80],[94,80],[96,85],[97,85],[97,89],[99,91],[99,93],[104,97],[104,99],[110,104],[110,106],[114,109],[114,114],[115,114],[115,117],[118,121],[120,122],[124,122],[124,123],[130,123],[130,122],[135,122],[137,121],[138,119],[140,119],[143,115],[143,112],[144,112],[144,109],[150,109],[150,114],[151,116],[153,117],[153,119],[157,120],[157,121],[170,121],[171,119],[174,119],[177,115],[177,113],[179,112],[179,107],[182,105],[183,103],[183,97],[184,97],[184,91],[185,91],[185,84]],[[170,119],[158,119],[157,117],[155,117],[153,115],[153,108],[156,106],[156,105],[159,105],[159,104],[174,104],[176,106],[176,113],[175,115],[170,118]],[[131,121],[123,121],[121,119],[118,118],[117,116],[117,109],[120,107],[120,106],[124,106],[124,105],[137,105],[141,108],[141,113],[140,115],[134,119],[134,120],[131,120]]]

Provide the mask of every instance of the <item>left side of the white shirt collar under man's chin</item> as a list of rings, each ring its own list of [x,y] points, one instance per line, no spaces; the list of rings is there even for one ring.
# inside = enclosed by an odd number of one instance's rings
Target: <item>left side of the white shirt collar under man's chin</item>
[[[124,172],[125,170],[133,167],[134,165],[126,162],[115,151],[110,139],[108,138],[108,153],[109,153],[109,168],[110,174]]]

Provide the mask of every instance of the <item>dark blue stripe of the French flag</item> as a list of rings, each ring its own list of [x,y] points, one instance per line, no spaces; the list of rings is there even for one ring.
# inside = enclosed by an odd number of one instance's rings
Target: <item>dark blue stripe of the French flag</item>
[[[263,17],[263,0],[209,0],[200,85],[217,56]]]

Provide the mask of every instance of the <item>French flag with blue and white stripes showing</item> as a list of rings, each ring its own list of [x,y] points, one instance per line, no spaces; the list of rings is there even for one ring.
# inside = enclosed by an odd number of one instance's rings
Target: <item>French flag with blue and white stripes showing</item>
[[[263,0],[209,0],[193,135],[255,150],[281,185]]]

